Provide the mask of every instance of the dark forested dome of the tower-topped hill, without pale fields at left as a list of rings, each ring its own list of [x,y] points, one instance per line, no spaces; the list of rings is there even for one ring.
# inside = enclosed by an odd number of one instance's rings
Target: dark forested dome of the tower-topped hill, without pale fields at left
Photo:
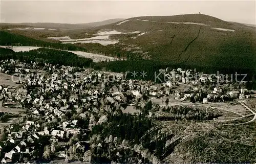
[[[129,50],[134,52],[139,49],[144,58],[174,64],[252,68],[255,71],[255,28],[242,24],[189,14],[135,17],[92,30],[104,29],[140,31],[133,37],[122,36],[120,39],[119,36],[118,45],[131,47]]]

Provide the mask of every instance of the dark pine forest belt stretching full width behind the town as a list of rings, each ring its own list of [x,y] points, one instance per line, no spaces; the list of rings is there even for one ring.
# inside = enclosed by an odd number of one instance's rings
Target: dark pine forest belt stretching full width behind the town
[[[182,68],[182,69],[195,69],[197,71],[208,73],[208,74],[228,74],[233,75],[237,72],[238,74],[247,74],[246,79],[244,81],[251,81],[248,82],[247,87],[249,89],[255,88],[255,76],[254,71],[252,69],[239,69],[239,68],[232,68],[228,69],[225,67],[200,67],[200,66],[191,66],[186,64],[172,64],[168,62],[161,62],[161,61],[154,61],[154,60],[144,60],[144,59],[129,59],[129,60],[118,60],[118,61],[102,61],[99,63],[93,63],[92,59],[78,57],[77,55],[66,52],[66,51],[59,51],[53,49],[37,49],[32,50],[29,52],[14,52],[10,49],[0,48],[0,60],[4,59],[19,59],[21,61],[26,62],[39,62],[44,64],[45,62],[51,64],[59,64],[59,65],[70,65],[70,66],[78,66],[78,67],[92,67],[96,70],[103,70],[103,71],[111,71],[117,73],[125,73],[128,72],[127,78],[129,79],[140,79],[140,80],[152,80],[156,82],[159,79],[163,80],[163,74],[159,75],[159,69],[165,69],[166,67],[169,68]],[[146,73],[146,76],[140,76],[142,72]],[[133,72],[137,72],[137,76],[132,76]],[[158,76],[159,75],[159,76]],[[159,77],[156,78],[156,76]],[[238,76],[238,80],[243,78],[244,76]],[[155,79],[156,78],[156,79]]]

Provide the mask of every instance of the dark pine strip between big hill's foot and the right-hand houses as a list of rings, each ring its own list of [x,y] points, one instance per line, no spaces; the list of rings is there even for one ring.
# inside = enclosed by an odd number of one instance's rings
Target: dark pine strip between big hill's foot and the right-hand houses
[[[192,69],[196,70],[198,72],[203,72],[206,74],[216,74],[219,71],[219,74],[228,74],[228,75],[233,75],[236,74],[247,74],[247,77],[245,80],[255,80],[254,74],[255,74],[255,69],[253,66],[251,69],[243,69],[239,67],[234,67],[234,68],[226,68],[226,67],[208,67],[208,66],[198,66],[198,65],[189,65],[189,64],[175,64],[172,62],[163,62],[163,61],[155,61],[155,60],[122,60],[122,61],[112,61],[112,62],[101,62],[98,63],[97,65],[98,69],[103,68],[106,71],[111,70],[112,72],[123,72],[125,73],[126,71],[130,72],[146,72],[147,76],[146,77],[141,77],[140,74],[138,74],[136,79],[144,79],[144,80],[154,80],[155,79],[155,72],[156,75],[159,74],[159,69],[165,69],[166,67],[172,68],[172,69],[177,69],[177,68],[182,68],[182,69]],[[130,74],[131,76],[132,74]],[[131,77],[132,78],[132,77]],[[242,76],[238,76],[239,78],[243,78]]]

